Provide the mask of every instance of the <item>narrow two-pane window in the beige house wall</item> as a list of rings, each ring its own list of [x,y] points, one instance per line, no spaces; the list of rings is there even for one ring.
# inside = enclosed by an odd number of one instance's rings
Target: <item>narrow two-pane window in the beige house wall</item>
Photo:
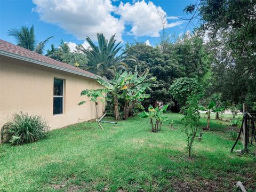
[[[63,79],[54,78],[53,115],[63,114]]]

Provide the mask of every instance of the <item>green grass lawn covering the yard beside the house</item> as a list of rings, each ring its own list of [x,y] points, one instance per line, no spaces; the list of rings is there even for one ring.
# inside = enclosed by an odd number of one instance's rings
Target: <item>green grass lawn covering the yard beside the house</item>
[[[133,117],[102,123],[103,131],[78,123],[35,143],[1,145],[0,191],[236,191],[237,181],[256,190],[255,157],[230,153],[227,122],[213,119],[189,159],[182,115],[168,116],[174,129],[165,122],[158,133]]]

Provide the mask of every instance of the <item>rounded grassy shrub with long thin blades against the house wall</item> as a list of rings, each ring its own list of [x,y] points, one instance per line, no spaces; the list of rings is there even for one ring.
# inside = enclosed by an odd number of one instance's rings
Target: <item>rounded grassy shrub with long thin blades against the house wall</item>
[[[41,116],[28,115],[20,112],[12,116],[1,130],[2,142],[11,142],[12,145],[22,145],[35,142],[46,137],[49,126]]]

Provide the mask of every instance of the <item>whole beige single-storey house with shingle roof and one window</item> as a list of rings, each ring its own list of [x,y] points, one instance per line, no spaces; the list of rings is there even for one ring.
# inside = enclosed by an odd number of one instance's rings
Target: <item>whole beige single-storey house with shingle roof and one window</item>
[[[20,111],[42,116],[51,130],[96,118],[94,103],[80,93],[102,88],[97,78],[0,39],[0,129]],[[78,106],[82,100],[87,102]],[[98,103],[101,116],[105,105]]]

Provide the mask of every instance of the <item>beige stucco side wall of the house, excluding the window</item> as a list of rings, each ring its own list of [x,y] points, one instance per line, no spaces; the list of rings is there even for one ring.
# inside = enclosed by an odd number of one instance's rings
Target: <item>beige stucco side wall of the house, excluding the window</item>
[[[65,79],[63,115],[53,115],[53,79]],[[0,55],[0,129],[12,114],[41,115],[51,130],[96,118],[94,103],[81,97],[85,89],[102,87],[95,79]],[[85,100],[84,105],[77,103]],[[105,105],[98,102],[101,116]]]

